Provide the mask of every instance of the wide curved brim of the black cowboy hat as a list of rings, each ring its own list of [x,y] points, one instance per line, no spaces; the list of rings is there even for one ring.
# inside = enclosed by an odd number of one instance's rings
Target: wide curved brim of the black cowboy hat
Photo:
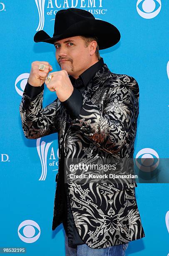
[[[99,50],[107,49],[117,44],[120,40],[119,30],[111,23],[104,20],[81,20],[70,26],[62,34],[50,37],[45,31],[40,30],[34,36],[36,43],[45,42],[54,44],[55,41],[72,36],[97,36]]]

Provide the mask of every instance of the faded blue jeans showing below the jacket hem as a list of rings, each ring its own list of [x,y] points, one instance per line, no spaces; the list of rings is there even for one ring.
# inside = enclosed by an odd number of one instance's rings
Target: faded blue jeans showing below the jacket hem
[[[125,256],[128,245],[129,242],[107,248],[94,249],[87,246],[87,244],[81,244],[77,248],[72,248],[68,246],[67,236],[65,234],[66,256]]]

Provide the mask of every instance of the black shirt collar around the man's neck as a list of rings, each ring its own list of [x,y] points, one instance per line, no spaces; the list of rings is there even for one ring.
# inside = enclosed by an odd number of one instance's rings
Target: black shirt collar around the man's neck
[[[101,59],[99,59],[99,61],[97,61],[95,64],[93,64],[91,67],[89,67],[88,69],[86,69],[82,74],[80,74],[80,76],[75,79],[74,77],[72,77],[71,75],[69,75],[70,81],[72,82],[72,84],[75,83],[75,81],[77,80],[82,80],[84,86],[86,86],[88,84],[88,82],[92,79],[92,77],[94,76],[94,74],[96,74],[96,72],[101,69],[101,67],[104,65],[104,60],[101,57]]]

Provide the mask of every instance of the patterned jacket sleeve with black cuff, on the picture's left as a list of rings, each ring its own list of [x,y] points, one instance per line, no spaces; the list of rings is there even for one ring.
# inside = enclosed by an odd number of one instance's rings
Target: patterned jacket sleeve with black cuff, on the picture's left
[[[59,132],[58,98],[42,108],[44,84],[33,87],[28,82],[20,102],[22,129],[26,138],[37,139]]]

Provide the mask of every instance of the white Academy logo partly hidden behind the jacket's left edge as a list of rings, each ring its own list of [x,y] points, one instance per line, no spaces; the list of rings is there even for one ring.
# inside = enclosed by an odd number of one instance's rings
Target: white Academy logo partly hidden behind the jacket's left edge
[[[37,139],[37,142],[36,142],[37,153],[39,155],[41,166],[42,166],[42,173],[41,173],[41,176],[40,176],[39,180],[45,180],[46,179],[46,175],[47,175],[47,153],[48,153],[48,151],[50,149],[50,145],[52,143],[53,143],[53,141],[46,143],[45,141],[41,141],[41,138]],[[59,149],[57,149],[57,159],[59,159]],[[54,170],[52,170],[52,171],[58,171],[59,161],[56,161],[55,152],[54,152],[53,147],[51,148],[51,151],[50,151],[49,160],[50,160],[49,166],[55,166]]]

